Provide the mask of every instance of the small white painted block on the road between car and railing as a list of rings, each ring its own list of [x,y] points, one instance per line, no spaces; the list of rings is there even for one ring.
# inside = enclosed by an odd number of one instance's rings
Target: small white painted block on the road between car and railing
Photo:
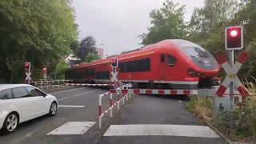
[[[85,134],[96,122],[66,122],[46,135]]]

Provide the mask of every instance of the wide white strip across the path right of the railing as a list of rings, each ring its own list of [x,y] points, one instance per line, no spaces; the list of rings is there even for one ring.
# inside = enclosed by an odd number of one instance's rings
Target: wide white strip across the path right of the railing
[[[189,125],[111,125],[103,136],[166,135],[220,138],[209,126]]]

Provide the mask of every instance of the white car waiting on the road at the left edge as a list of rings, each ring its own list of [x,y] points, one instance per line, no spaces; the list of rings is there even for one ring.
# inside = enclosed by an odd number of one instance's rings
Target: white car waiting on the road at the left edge
[[[9,134],[19,123],[42,115],[54,116],[58,101],[28,84],[0,84],[0,130]]]

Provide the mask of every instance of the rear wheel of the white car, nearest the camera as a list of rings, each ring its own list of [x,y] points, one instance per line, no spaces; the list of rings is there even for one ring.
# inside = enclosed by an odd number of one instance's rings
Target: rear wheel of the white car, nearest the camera
[[[14,132],[16,130],[16,127],[18,126],[18,114],[17,113],[10,113],[7,115],[5,122],[2,126],[2,132],[4,134],[10,134],[11,132]]]

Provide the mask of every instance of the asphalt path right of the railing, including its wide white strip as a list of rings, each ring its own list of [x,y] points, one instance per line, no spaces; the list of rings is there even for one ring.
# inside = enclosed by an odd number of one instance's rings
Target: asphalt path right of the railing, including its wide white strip
[[[163,96],[136,96],[105,129],[97,143],[226,143],[187,112],[182,101]]]

